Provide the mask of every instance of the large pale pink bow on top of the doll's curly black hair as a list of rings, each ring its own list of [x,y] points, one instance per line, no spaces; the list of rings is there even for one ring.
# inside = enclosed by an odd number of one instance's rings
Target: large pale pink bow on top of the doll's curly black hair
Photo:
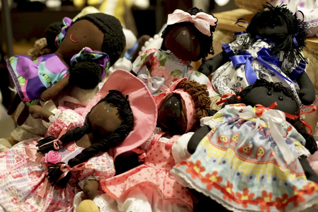
[[[218,19],[205,12],[198,12],[196,15],[190,15],[190,13],[184,12],[183,10],[175,10],[172,14],[168,15],[168,25],[180,22],[194,23],[194,26],[200,32],[204,35],[211,36],[210,25],[217,25]]]

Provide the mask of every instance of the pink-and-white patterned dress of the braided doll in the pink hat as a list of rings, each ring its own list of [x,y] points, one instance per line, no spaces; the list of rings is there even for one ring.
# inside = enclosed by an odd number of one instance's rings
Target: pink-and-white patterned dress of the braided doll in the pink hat
[[[50,127],[49,134],[54,135],[56,128]],[[54,131],[54,132],[52,132]],[[15,147],[0,153],[0,206],[5,211],[73,211],[74,195],[80,191],[87,178],[96,180],[112,177],[115,174],[114,159],[108,153],[98,154],[88,160],[90,168],[72,172],[66,188],[47,185],[44,198],[38,196],[46,177],[46,164],[40,164],[25,153],[25,148],[36,151],[38,139],[20,142]],[[59,148],[61,161],[68,162],[83,148],[74,141]]]

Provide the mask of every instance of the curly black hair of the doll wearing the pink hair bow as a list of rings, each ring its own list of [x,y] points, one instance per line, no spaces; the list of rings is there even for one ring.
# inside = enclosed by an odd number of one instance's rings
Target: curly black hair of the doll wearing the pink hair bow
[[[190,15],[196,15],[198,12],[204,12],[204,11],[199,9],[199,8],[197,8],[197,7],[192,7],[191,9],[187,10],[186,12],[189,13]],[[210,15],[213,16],[213,14],[210,14]],[[216,17],[214,17],[214,18],[216,18]],[[218,19],[216,18],[216,20],[218,20]],[[162,32],[162,36],[161,37],[163,38],[163,41],[162,41],[160,49],[162,51],[167,51],[168,50],[167,47],[165,46],[164,40],[165,40],[168,32],[173,27],[176,27],[176,26],[188,26],[188,25],[194,25],[194,24],[191,23],[191,22],[181,22],[181,23],[168,25]],[[210,25],[210,32],[211,32],[211,36],[210,37],[207,36],[207,35],[204,35],[203,33],[201,33],[197,28],[194,29],[194,30],[196,30],[198,32],[196,34],[197,34],[198,40],[200,42],[200,56],[195,61],[198,61],[198,60],[202,59],[202,62],[204,62],[205,58],[209,54],[212,54],[212,55],[214,54],[212,43],[213,43],[213,32],[215,31],[215,27],[216,27],[216,25],[215,26],[211,26]]]

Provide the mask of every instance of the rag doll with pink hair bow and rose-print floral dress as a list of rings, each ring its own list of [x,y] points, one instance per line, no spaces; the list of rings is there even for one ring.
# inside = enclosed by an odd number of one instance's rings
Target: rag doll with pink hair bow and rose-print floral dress
[[[209,79],[190,65],[213,53],[212,33],[217,18],[196,7],[184,12],[175,10],[168,16],[162,32],[161,50],[148,49],[133,63],[134,72],[148,86],[152,95],[158,95],[172,82],[186,77],[211,88]],[[170,51],[170,53],[166,51]],[[212,88],[211,88],[212,89]],[[209,90],[211,90],[209,89]]]

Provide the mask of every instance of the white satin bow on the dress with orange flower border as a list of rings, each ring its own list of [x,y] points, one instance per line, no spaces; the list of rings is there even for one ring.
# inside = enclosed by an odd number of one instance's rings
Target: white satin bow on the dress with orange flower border
[[[243,108],[243,110],[241,110]],[[245,107],[235,107],[234,112],[238,114],[240,118],[248,119],[248,118],[255,118],[255,128],[252,129],[250,132],[247,133],[245,136],[245,139],[240,144],[243,145],[244,141],[249,138],[250,136],[257,133],[259,124],[260,124],[260,118],[255,114],[252,106],[245,106]],[[290,151],[287,143],[282,137],[282,134],[286,133],[284,129],[282,128],[282,124],[286,122],[285,113],[281,112],[279,110],[270,109],[265,111],[261,119],[266,121],[269,124],[269,129],[271,131],[271,135],[279,148],[280,152],[283,155],[284,160],[287,164],[290,164],[294,160],[294,154]],[[239,147],[240,147],[239,146]]]

